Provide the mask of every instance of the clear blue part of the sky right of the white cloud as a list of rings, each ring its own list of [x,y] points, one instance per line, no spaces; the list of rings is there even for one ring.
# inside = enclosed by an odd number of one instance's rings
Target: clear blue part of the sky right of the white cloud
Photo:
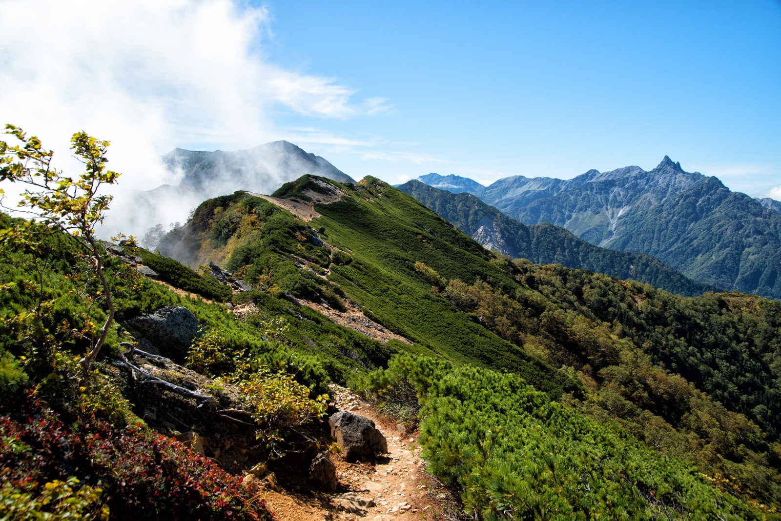
[[[755,196],[781,185],[779,2],[266,5],[275,59],[392,106],[315,125],[390,156],[308,144],[352,175],[572,177],[668,154]]]

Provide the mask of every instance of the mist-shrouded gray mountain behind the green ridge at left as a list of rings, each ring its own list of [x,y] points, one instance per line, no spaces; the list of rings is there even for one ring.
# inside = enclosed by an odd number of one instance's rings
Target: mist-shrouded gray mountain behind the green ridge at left
[[[178,172],[180,183],[162,185],[152,190],[134,190],[119,197],[112,204],[122,222],[109,222],[114,229],[126,234],[144,236],[150,227],[162,223],[184,222],[187,214],[201,201],[212,197],[246,190],[272,193],[282,184],[301,175],[320,175],[339,181],[355,183],[330,162],[287,141],[274,141],[243,151],[187,151],[176,148],[162,157],[170,172]],[[147,245],[155,246],[155,245]]]

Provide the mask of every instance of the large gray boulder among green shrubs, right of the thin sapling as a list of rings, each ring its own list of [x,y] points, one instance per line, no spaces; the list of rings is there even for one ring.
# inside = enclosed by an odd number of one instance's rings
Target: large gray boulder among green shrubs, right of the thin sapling
[[[198,319],[191,310],[181,306],[161,307],[131,318],[126,324],[138,336],[155,344],[163,356],[173,359],[183,358],[194,338],[200,335]]]

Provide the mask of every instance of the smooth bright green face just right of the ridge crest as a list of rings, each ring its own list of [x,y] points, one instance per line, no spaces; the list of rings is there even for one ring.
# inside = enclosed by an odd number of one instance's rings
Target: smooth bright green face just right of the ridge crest
[[[332,264],[329,280],[360,303],[366,315],[445,358],[518,372],[552,395],[574,389],[558,370],[434,295],[431,284],[415,273],[415,262],[423,262],[445,278],[490,279],[512,289],[512,277],[469,236],[372,178],[315,209],[322,217],[309,225],[324,228],[323,239],[352,257],[349,264]]]

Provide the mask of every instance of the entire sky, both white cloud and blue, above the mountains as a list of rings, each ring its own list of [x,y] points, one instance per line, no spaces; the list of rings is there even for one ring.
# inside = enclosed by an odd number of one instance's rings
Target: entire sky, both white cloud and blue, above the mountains
[[[781,199],[781,2],[0,0],[0,115],[173,147],[286,139],[356,179],[482,183],[665,154]],[[45,66],[41,66],[45,64]]]

